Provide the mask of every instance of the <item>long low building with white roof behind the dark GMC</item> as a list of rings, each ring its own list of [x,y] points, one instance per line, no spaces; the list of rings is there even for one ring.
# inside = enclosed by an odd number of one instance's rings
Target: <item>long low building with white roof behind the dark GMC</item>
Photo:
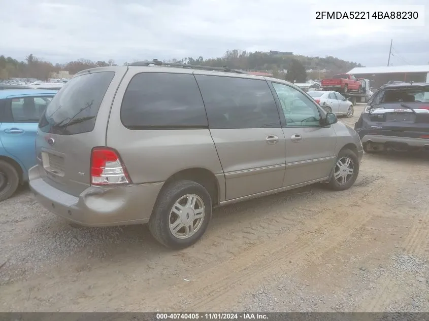
[[[410,66],[356,67],[347,74],[371,81],[372,91],[391,80],[429,83],[429,64]]]

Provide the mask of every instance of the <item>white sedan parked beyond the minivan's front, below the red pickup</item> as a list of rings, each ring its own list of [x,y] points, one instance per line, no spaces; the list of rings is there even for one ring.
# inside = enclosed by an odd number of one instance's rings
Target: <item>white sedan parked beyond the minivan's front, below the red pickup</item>
[[[308,94],[325,110],[326,113],[352,117],[353,103],[336,91],[309,91]]]

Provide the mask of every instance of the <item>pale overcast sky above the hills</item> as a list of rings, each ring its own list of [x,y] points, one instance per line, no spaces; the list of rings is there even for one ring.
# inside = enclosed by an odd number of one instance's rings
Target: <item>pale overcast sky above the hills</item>
[[[341,1],[344,3],[344,1]],[[389,10],[427,0],[350,1],[351,10]],[[116,63],[187,56],[218,57],[226,50],[288,51],[335,56],[366,66],[429,63],[429,12],[424,26],[390,22],[316,21],[332,0],[0,0],[0,54],[32,53],[53,63],[85,58]],[[422,14],[420,13],[420,17]],[[380,21],[379,21],[380,22]],[[319,23],[319,24],[318,24]],[[389,25],[390,23],[390,25]],[[413,23],[413,22],[411,22]]]

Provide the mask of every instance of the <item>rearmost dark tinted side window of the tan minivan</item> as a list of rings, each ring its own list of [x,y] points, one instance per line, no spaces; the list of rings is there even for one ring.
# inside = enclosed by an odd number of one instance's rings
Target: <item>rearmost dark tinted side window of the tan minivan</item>
[[[191,74],[137,74],[125,91],[120,115],[122,124],[133,130],[208,128],[203,99]]]

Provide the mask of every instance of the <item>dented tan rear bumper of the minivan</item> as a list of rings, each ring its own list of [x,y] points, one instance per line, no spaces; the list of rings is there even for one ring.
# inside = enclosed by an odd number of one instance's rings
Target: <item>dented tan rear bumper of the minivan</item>
[[[83,226],[147,223],[163,185],[90,186],[79,196],[74,196],[46,183],[43,170],[36,165],[28,171],[29,186],[38,202],[56,215]]]

